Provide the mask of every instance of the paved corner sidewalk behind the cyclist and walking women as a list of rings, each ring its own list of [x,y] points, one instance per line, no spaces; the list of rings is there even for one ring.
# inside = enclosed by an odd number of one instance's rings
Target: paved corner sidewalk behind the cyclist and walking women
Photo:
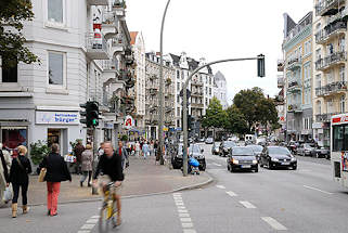
[[[79,202],[98,199],[100,195],[92,195],[91,187],[87,187],[87,181],[83,187],[79,186],[80,176],[73,176],[73,182],[62,182],[60,203]],[[150,195],[156,193],[168,193],[177,190],[193,189],[211,182],[212,179],[206,172],[201,176],[183,177],[181,170],[170,170],[168,166],[155,165],[154,157],[130,158],[130,166],[126,169],[125,181],[123,184],[123,197],[139,195]],[[20,197],[21,198],[21,197]],[[28,191],[29,205],[46,204],[47,191],[46,182],[38,182],[37,176],[30,177]],[[20,199],[18,203],[22,200]]]

